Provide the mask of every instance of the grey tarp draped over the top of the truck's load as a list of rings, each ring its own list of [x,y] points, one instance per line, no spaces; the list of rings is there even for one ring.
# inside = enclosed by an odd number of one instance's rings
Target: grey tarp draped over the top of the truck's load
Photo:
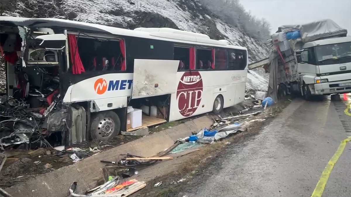
[[[301,39],[304,43],[318,40],[320,38],[343,36],[347,30],[341,28],[337,23],[330,19],[314,21],[303,25],[283,25],[278,28],[278,32],[290,32],[300,30]]]

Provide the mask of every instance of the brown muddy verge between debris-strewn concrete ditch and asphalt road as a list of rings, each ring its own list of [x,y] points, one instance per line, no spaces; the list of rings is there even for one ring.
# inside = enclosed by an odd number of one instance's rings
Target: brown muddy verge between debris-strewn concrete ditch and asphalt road
[[[262,128],[269,124],[274,117],[289,104],[289,100],[281,101],[267,108],[263,113],[248,119],[248,121],[255,119],[265,120],[254,121],[250,124],[250,127],[247,128],[247,131],[231,136],[223,141],[206,145],[206,147],[201,148],[201,150],[191,153],[187,156],[187,159],[183,159],[183,163],[178,165],[176,170],[166,175],[157,176],[157,174],[155,174],[156,177],[152,179],[152,181],[149,181],[144,189],[131,196],[182,197],[185,193],[180,191],[187,192],[196,190],[192,185],[201,184],[201,182],[206,180],[204,177],[216,174],[221,170],[219,158],[226,158],[231,155],[233,151],[240,151],[243,146],[250,143],[252,137],[259,134]],[[162,184],[154,187],[154,184],[159,182],[162,182]]]

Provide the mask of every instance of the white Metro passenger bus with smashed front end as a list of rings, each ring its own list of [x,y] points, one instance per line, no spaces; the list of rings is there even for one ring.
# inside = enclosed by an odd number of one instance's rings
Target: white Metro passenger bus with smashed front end
[[[108,140],[120,131],[219,113],[244,100],[247,49],[226,40],[171,28],[0,20],[7,94],[44,107],[46,119],[57,113],[50,117],[67,122],[68,143],[84,141],[86,134]],[[128,106],[143,111],[137,128],[128,125]]]

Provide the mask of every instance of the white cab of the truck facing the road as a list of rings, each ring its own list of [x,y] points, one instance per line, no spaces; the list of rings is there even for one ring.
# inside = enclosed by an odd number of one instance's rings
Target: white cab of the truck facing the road
[[[351,92],[351,36],[307,42],[296,56],[302,94]]]

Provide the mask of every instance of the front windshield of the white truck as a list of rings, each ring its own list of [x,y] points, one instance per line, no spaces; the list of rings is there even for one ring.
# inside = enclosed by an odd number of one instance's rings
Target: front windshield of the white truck
[[[316,56],[323,65],[351,62],[351,42],[317,46]]]

